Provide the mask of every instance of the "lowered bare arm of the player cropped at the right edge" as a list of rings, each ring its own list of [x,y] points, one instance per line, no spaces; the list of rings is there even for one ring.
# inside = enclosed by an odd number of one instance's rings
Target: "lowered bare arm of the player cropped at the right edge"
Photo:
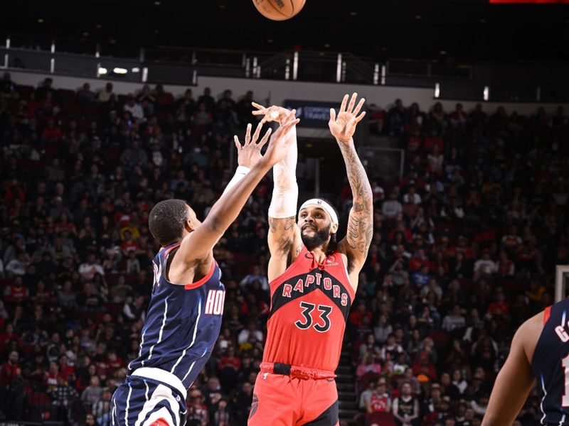
[[[529,360],[533,359],[542,329],[543,312],[521,324],[514,335],[508,359],[494,383],[482,426],[511,425],[516,420],[533,386]],[[541,383],[538,385],[541,388]]]

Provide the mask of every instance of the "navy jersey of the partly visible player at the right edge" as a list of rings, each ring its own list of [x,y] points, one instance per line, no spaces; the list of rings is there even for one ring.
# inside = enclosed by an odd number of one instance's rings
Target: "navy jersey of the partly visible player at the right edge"
[[[569,425],[569,299],[543,313],[543,330],[531,360],[543,393],[541,424]]]

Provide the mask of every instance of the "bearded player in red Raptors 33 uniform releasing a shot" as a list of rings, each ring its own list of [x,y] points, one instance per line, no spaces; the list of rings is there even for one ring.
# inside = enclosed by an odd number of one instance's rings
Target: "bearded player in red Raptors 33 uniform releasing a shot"
[[[295,221],[298,187],[296,141],[273,166],[275,189],[269,208],[271,310],[267,343],[248,425],[337,425],[334,370],[373,234],[373,203],[366,171],[353,146],[364,99],[346,94],[329,128],[344,156],[353,193],[345,239],[336,243],[338,217],[324,200],[308,200]],[[263,121],[280,121],[286,109],[263,108]],[[296,139],[292,129],[288,137]]]

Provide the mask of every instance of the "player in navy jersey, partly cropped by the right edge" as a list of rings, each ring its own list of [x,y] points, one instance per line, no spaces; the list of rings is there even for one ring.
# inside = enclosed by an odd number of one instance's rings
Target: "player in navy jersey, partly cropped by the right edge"
[[[490,395],[482,426],[511,425],[535,381],[541,425],[569,425],[569,299],[521,324]]]

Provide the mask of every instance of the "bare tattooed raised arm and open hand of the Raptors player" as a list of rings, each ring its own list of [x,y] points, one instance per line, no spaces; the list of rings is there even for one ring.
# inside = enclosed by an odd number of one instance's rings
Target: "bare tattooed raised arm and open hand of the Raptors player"
[[[363,168],[356,147],[353,145],[353,133],[356,125],[366,114],[358,115],[365,99],[361,99],[354,109],[358,94],[352,94],[349,104],[348,95],[344,96],[340,111],[336,117],[336,111],[330,109],[329,128],[340,147],[346,172],[350,182],[353,196],[353,204],[348,220],[346,238],[340,241],[338,249],[348,258],[348,273],[352,285],[357,285],[359,271],[368,256],[371,237],[373,236],[373,195],[371,185]]]

